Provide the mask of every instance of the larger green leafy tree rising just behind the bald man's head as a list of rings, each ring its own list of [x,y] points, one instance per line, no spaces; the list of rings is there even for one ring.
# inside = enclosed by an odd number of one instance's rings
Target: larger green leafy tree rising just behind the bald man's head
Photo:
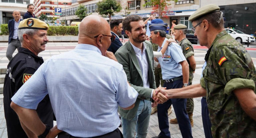
[[[106,15],[111,20],[111,16],[114,16],[114,13],[120,12],[122,7],[116,2],[116,0],[102,0],[97,3],[97,12],[102,16]]]

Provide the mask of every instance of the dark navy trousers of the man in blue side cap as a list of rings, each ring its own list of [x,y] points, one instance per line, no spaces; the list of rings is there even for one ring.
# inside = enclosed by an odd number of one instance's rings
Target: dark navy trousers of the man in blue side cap
[[[166,87],[166,89],[182,88],[182,86],[182,79],[170,83],[164,83],[164,87]],[[168,108],[170,108],[171,105],[173,105],[182,137],[192,138],[191,124],[186,112],[186,102],[187,99],[169,99],[167,102],[157,105],[158,124],[159,129],[161,130],[159,136],[161,138],[171,137],[168,121]]]

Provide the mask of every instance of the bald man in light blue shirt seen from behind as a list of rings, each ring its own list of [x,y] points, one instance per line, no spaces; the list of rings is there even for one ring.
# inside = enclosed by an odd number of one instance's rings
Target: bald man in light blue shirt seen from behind
[[[104,18],[82,20],[76,48],[48,59],[12,97],[11,106],[27,128],[38,137],[56,137],[60,130],[58,138],[122,137],[118,106],[133,108],[138,93],[113,53],[106,51],[114,38]],[[47,93],[58,126],[50,133],[33,112]]]

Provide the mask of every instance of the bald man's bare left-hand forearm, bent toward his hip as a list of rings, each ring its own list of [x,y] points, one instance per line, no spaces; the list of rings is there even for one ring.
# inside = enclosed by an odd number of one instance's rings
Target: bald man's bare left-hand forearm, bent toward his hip
[[[36,136],[42,134],[46,128],[38,117],[36,110],[23,108],[15,103],[11,103],[12,109],[18,114],[20,121],[31,130]]]

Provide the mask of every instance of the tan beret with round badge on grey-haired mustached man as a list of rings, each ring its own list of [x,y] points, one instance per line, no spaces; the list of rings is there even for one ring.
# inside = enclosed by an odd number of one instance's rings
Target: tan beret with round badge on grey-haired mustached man
[[[40,29],[40,30],[49,30],[48,25],[39,19],[36,18],[28,18],[20,21],[18,26],[20,29]]]

